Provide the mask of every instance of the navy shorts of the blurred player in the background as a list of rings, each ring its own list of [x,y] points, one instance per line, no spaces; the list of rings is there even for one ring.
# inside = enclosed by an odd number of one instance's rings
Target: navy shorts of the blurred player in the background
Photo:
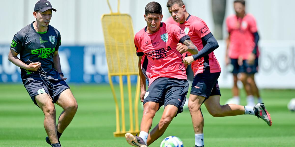
[[[255,74],[258,72],[258,58],[255,59],[254,64],[250,65],[247,63],[247,60],[243,60],[243,65],[240,66],[238,64],[238,59],[231,59],[231,64],[233,66],[232,73],[247,73],[247,74]]]

